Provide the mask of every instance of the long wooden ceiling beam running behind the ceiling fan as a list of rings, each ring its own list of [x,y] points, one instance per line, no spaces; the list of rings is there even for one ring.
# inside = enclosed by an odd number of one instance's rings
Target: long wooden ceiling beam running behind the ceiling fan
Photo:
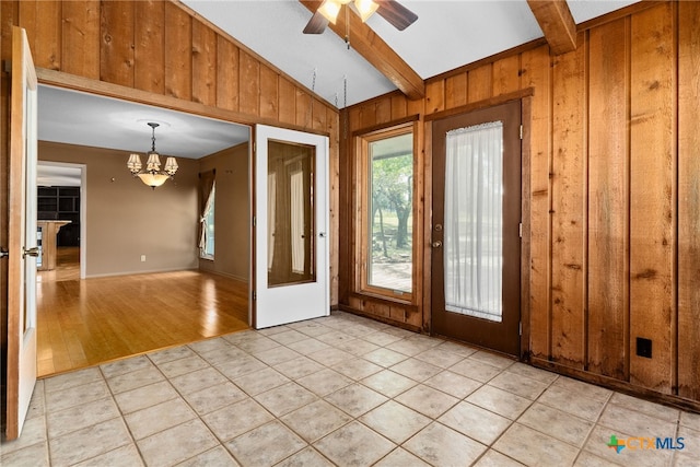
[[[316,12],[316,9],[322,3],[317,0],[299,1],[312,13]],[[345,8],[348,7],[346,5],[343,9]],[[349,27],[346,24],[345,11],[340,12],[336,24],[328,23],[328,27],[343,39],[349,32],[350,47],[393,82],[408,98],[423,98],[425,96],[425,83],[423,79],[372,31],[370,26],[362,23],[357,14],[350,13],[347,16],[348,20],[350,20]]]

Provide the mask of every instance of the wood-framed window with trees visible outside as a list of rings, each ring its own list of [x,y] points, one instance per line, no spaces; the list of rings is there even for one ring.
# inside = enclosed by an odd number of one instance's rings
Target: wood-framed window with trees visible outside
[[[362,161],[355,283],[360,291],[410,299],[413,291],[413,129],[411,125],[359,138]],[[360,188],[359,186],[359,188]]]

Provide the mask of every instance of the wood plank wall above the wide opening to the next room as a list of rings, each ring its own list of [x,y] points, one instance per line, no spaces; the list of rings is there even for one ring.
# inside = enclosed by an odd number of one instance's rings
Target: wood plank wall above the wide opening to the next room
[[[0,8],[2,60],[11,58],[7,34],[19,25],[38,68],[151,93],[154,102],[167,96],[201,104],[232,121],[328,133],[330,225],[338,232],[338,110],[234,38],[167,0],[3,0]],[[3,114],[5,95],[3,87]],[[7,147],[1,150],[5,171]],[[7,185],[0,188],[7,192]],[[337,265],[334,248],[331,304],[338,302]]]

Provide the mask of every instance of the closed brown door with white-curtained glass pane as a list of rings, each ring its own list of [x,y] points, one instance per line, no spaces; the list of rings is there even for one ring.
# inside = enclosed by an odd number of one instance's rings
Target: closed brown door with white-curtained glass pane
[[[520,102],[433,122],[433,332],[520,353]]]

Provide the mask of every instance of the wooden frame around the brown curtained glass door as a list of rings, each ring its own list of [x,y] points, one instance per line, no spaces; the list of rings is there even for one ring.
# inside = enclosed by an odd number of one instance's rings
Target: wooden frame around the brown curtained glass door
[[[423,300],[422,300],[422,308],[423,308],[423,328],[429,331],[431,336],[434,336],[434,329],[432,325],[432,290],[428,284],[431,283],[431,271],[432,271],[432,177],[433,177],[433,166],[432,166],[432,153],[433,153],[433,122],[435,120],[446,118],[450,116],[465,114],[474,110],[479,110],[482,108],[492,107],[495,105],[505,104],[510,101],[520,100],[521,101],[521,124],[523,125],[523,139],[521,142],[521,218],[523,223],[523,237],[521,238],[521,323],[522,323],[522,334],[521,334],[521,352],[520,359],[522,361],[530,360],[530,335],[532,335],[532,325],[530,325],[530,264],[532,264],[532,213],[530,213],[530,205],[532,205],[532,184],[530,184],[530,172],[532,172],[532,140],[533,140],[533,96],[535,95],[534,87],[526,87],[521,91],[516,91],[509,94],[503,94],[501,96],[492,97],[485,101],[478,101],[475,103],[470,103],[467,105],[463,105],[459,107],[451,108],[448,110],[438,112],[435,114],[427,115],[424,118],[424,152],[425,154],[430,154],[430,156],[425,157],[424,162],[424,206],[425,206],[425,215],[423,219],[423,231],[425,233],[425,241],[423,242],[423,277],[422,281],[425,284],[423,288]],[[547,189],[547,196],[551,197],[551,190]],[[547,330],[542,330],[546,332]]]

